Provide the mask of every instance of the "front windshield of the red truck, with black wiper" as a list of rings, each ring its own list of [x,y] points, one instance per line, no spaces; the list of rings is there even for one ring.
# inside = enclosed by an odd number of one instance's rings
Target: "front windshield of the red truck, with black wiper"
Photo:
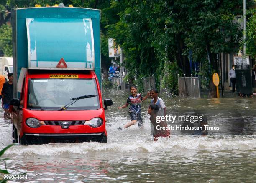
[[[67,110],[99,109],[99,97],[95,79],[50,78],[30,79],[28,85],[28,107],[33,109],[58,110],[73,98],[83,95],[97,95],[79,99]]]

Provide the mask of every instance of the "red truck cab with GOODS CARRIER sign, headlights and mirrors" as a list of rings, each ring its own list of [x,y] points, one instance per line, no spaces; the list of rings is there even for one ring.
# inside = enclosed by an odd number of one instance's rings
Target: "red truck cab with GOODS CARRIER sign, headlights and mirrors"
[[[105,108],[92,71],[26,74],[13,99],[13,138],[21,144],[96,141],[107,143]]]

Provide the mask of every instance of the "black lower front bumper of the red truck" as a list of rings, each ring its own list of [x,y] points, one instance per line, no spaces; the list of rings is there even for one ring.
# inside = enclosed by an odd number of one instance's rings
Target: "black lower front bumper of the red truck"
[[[81,142],[107,143],[107,135],[102,133],[24,133],[20,138],[20,144],[46,144],[46,143],[81,143]]]

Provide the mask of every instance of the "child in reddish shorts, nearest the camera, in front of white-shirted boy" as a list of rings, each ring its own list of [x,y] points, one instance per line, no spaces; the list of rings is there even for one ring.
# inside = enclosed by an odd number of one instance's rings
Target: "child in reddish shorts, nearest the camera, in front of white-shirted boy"
[[[156,116],[159,116],[159,106],[156,104],[150,104],[148,107],[148,114],[151,115],[150,121],[154,126],[154,141],[157,141],[159,137],[170,137],[170,130],[165,130],[162,127],[166,128],[167,124],[165,121],[156,121]]]

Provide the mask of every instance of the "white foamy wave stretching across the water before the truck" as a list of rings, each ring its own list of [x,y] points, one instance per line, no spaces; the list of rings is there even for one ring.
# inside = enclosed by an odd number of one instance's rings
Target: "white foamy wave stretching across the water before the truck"
[[[61,154],[87,153],[148,153],[148,152],[179,152],[190,150],[250,150],[256,149],[256,138],[230,138],[223,136],[198,137],[192,135],[175,135],[171,138],[159,138],[157,142],[151,139],[131,140],[129,143],[110,142],[102,143],[55,143],[44,145],[19,145],[13,146],[6,151],[5,155],[26,155],[26,156],[59,156]]]

